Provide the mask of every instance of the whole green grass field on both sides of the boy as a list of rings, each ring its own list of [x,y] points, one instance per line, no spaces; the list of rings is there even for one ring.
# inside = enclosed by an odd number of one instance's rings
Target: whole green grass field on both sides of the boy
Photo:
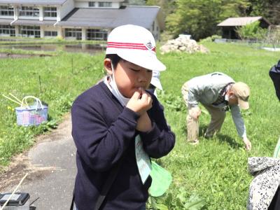
[[[247,158],[272,156],[279,139],[280,104],[268,71],[280,53],[229,43],[204,45],[211,51],[209,54],[159,55],[167,65],[167,71],[161,74],[164,91],[159,92],[159,99],[176,134],[174,150],[159,161],[173,176],[167,195],[153,200],[161,209],[186,209],[191,195],[204,199],[204,209],[246,209],[248,186],[253,179],[247,172]],[[15,153],[31,146],[34,135],[55,127],[73,99],[102,77],[103,57],[58,52],[52,57],[0,59],[1,94],[12,93],[19,98],[35,95],[50,108],[48,124],[18,127],[13,111],[17,104],[0,97],[0,165],[7,165]],[[227,73],[251,87],[251,107],[242,113],[253,146],[251,152],[244,150],[230,113],[214,139],[201,137],[196,147],[186,143],[181,85],[194,76],[214,71]],[[208,123],[209,115],[202,113],[201,133]]]

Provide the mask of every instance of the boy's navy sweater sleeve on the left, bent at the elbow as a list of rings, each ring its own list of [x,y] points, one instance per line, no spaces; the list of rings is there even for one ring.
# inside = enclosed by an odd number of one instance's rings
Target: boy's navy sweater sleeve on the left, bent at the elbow
[[[97,172],[104,172],[113,167],[128,148],[139,116],[125,108],[108,126],[101,111],[87,105],[74,103],[72,106],[73,140],[85,164]]]

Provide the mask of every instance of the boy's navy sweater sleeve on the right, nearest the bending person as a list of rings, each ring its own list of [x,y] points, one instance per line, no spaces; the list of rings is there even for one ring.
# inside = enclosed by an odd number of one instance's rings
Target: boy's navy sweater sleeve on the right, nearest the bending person
[[[167,155],[175,144],[175,134],[171,131],[169,125],[165,120],[163,106],[161,106],[157,99],[155,109],[149,112],[152,120],[152,130],[149,132],[140,132],[140,137],[143,141],[144,150],[151,158],[161,158]]]

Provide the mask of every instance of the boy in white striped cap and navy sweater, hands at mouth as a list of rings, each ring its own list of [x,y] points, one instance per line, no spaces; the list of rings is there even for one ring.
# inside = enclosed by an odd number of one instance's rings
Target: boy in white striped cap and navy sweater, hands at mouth
[[[158,100],[146,92],[152,70],[166,68],[156,57],[151,32],[135,25],[111,31],[104,67],[109,76],[80,94],[71,109],[76,209],[98,209],[100,203],[100,209],[145,209],[149,158],[167,155],[175,144]],[[148,157],[144,169],[139,153]],[[115,175],[109,192],[101,193]]]

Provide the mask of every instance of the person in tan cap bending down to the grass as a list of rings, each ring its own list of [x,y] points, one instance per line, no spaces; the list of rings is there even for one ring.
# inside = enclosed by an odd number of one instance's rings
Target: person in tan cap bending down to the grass
[[[214,72],[188,80],[181,88],[183,100],[188,107],[186,119],[188,139],[191,144],[199,143],[199,102],[209,111],[211,122],[204,137],[211,138],[221,130],[225,112],[230,111],[239,136],[243,139],[246,150],[251,150],[251,141],[246,135],[246,127],[240,109],[248,109],[250,89],[245,83],[235,80],[224,73]]]

